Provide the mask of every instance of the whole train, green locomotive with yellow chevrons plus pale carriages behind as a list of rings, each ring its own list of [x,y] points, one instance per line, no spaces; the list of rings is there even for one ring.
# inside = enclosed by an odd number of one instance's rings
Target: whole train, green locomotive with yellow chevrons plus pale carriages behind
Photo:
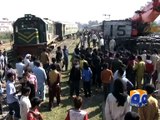
[[[13,23],[13,51],[16,55],[32,54],[39,56],[41,51],[49,48],[56,40],[63,40],[75,35],[76,23],[62,23],[25,14]]]

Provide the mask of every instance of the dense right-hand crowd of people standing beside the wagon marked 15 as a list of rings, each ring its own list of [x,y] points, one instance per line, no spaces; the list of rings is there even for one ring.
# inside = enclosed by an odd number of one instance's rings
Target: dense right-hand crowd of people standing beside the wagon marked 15
[[[92,96],[92,87],[103,89],[106,120],[158,120],[158,50],[144,50],[142,54],[125,49],[115,51],[114,39],[109,41],[109,49],[104,49],[101,46],[104,44],[101,43],[105,41],[101,33],[95,32],[84,32],[80,40],[81,47],[75,48],[70,72],[70,97],[73,96],[73,91],[79,96],[82,82],[84,97]],[[87,43],[87,40],[90,43]],[[93,47],[90,47],[91,42]],[[130,91],[135,89],[146,90],[148,98],[147,105],[138,108],[137,113],[133,112],[134,107],[130,104]],[[134,118],[131,118],[132,115]]]

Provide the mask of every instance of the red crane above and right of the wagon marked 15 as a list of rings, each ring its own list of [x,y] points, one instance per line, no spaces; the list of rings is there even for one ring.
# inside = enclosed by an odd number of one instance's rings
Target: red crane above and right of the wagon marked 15
[[[160,0],[152,0],[137,10],[132,20],[132,36],[147,35],[150,32],[150,23],[160,15]]]

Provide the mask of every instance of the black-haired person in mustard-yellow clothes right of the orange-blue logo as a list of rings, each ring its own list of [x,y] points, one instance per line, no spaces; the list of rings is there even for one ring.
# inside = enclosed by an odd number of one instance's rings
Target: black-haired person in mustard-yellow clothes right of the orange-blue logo
[[[158,101],[152,96],[155,91],[154,85],[146,84],[148,94],[147,105],[138,109],[141,120],[158,120]]]

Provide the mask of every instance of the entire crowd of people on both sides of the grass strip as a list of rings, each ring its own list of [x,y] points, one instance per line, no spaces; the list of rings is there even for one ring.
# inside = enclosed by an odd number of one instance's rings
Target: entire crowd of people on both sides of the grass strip
[[[68,111],[66,120],[89,119],[88,113],[81,110],[82,95],[92,97],[92,88],[104,94],[106,120],[158,120],[158,100],[154,95],[160,85],[158,51],[133,54],[127,50],[115,51],[114,39],[109,44],[106,50],[102,33],[82,33],[71,59],[71,70],[66,45],[63,49],[57,47],[55,57],[47,49],[39,59],[31,54],[20,56],[15,69],[7,61],[5,52],[0,51],[0,98],[5,87],[10,119],[42,120],[38,107],[46,100],[46,85],[48,110],[51,111],[55,97],[56,105],[61,103],[62,72],[69,70],[69,98],[73,99],[74,108]],[[15,87],[15,83],[20,87]],[[138,108],[137,112],[133,112],[130,105],[129,93],[134,89],[144,89],[148,96],[147,105]],[[2,99],[0,112],[3,113]]]

